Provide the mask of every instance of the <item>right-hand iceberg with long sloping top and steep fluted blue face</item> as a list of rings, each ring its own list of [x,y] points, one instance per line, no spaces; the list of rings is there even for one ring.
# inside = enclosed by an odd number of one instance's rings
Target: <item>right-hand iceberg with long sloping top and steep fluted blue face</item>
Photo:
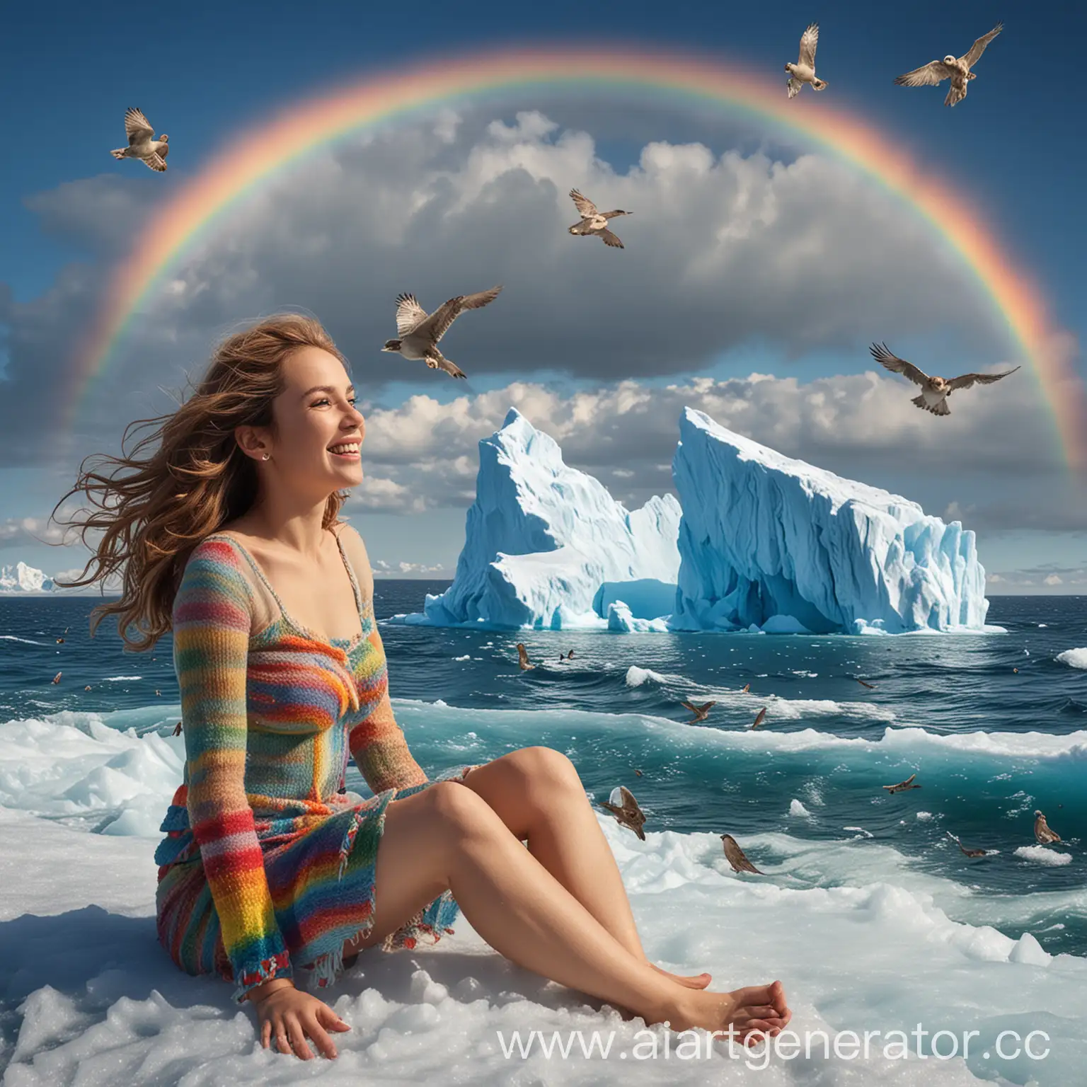
[[[679,592],[672,629],[812,634],[987,627],[974,534],[687,408],[672,473]]]

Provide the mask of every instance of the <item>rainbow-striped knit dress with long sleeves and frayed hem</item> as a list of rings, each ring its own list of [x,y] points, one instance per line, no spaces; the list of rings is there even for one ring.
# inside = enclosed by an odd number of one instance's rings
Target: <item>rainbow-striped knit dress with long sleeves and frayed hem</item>
[[[373,602],[336,542],[361,620],[352,639],[297,625],[225,534],[196,548],[174,601],[186,763],[154,854],[159,939],[186,973],[234,982],[239,1002],[296,965],[318,987],[336,980],[343,941],[373,924],[385,809],[434,784],[392,716]],[[349,753],[368,800],[341,791]],[[446,891],[383,947],[434,942],[459,912]]]

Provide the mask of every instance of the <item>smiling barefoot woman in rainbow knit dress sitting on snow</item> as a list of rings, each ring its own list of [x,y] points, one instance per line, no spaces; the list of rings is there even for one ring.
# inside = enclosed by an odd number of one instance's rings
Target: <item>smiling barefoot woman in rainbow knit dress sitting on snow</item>
[[[316,321],[263,321],[132,454],[105,458],[117,472],[80,468],[61,500],[85,492],[98,512],[67,524],[103,532],[68,584],[122,573],[95,626],[118,614],[137,650],[173,630],[185,769],[154,854],[163,948],[233,982],[262,1045],[303,1059],[307,1039],[335,1057],[328,1032],[350,1028],[295,987],[299,969],[333,984],[352,952],[452,933],[462,904],[514,962],[647,1022],[780,1030],[778,983],[710,992],[707,975],[648,962],[564,754],[523,748],[434,779],[412,757],[370,559],[338,518],[365,435],[346,370]],[[347,790],[349,757],[370,799]]]

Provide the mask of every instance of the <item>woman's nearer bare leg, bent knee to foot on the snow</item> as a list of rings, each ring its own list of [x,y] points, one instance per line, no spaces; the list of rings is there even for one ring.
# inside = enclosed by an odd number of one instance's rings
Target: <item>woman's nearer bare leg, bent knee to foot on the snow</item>
[[[738,1036],[788,1022],[780,985],[689,989],[630,954],[510,833],[473,790],[438,783],[386,809],[374,920],[355,945],[395,932],[443,890],[501,954],[560,985],[630,1009],[647,1023]],[[783,1016],[784,1012],[784,1016]]]

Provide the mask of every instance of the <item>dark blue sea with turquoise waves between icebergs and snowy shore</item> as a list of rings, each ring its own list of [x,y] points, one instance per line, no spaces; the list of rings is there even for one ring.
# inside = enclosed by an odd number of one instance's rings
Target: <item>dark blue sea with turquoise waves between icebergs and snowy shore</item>
[[[387,622],[421,610],[424,595],[447,584],[383,580],[375,594],[397,716],[429,773],[547,745],[570,755],[597,800],[630,788],[647,830],[847,842],[858,882],[930,876],[953,920],[1012,938],[1029,930],[1051,953],[1087,955],[1087,670],[1058,660],[1087,647],[1087,598],[992,598],[988,622],[1007,633],[985,635],[619,635]],[[172,730],[179,707],[170,638],[133,654],[114,620],[91,639],[96,602],[0,598],[0,722]],[[532,671],[517,666],[517,641]],[[560,662],[571,649],[574,659]],[[683,699],[716,705],[704,724],[688,725]],[[752,730],[763,707],[765,722]],[[29,794],[20,791],[15,754],[0,762],[0,804],[32,803],[20,799]],[[351,773],[349,785],[365,794]],[[914,773],[919,789],[882,788]],[[1035,848],[1035,809],[1060,846]],[[990,852],[966,858],[947,832]],[[887,857],[894,864],[877,860]],[[794,875],[808,886],[850,880],[840,864]]]

